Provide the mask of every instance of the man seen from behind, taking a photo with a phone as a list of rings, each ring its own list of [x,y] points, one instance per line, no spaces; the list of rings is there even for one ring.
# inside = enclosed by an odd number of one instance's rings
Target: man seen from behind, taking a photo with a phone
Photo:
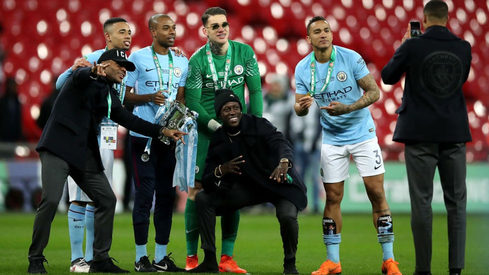
[[[419,37],[409,38],[382,69],[385,84],[406,73],[404,93],[393,140],[405,144],[411,198],[411,229],[416,254],[415,274],[431,274],[433,176],[441,179],[448,216],[448,267],[464,267],[466,234],[465,143],[471,141],[462,85],[470,71],[470,44],[445,26],[447,5],[438,0],[424,7]]]

